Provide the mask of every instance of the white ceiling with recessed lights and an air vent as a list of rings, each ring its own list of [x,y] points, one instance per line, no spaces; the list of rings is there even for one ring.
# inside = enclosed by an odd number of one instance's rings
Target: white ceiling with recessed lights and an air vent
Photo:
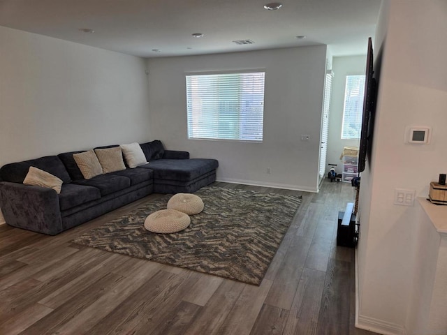
[[[381,0],[283,0],[279,10],[265,10],[268,2],[0,0],[0,26],[139,57],[321,44],[333,56],[346,56],[366,53]],[[194,33],[204,36],[194,38]],[[254,44],[233,43],[247,39]]]

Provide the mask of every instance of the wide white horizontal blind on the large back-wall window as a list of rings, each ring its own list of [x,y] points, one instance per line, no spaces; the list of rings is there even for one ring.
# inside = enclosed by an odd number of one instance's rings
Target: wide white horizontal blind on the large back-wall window
[[[186,75],[188,138],[262,142],[265,72]]]

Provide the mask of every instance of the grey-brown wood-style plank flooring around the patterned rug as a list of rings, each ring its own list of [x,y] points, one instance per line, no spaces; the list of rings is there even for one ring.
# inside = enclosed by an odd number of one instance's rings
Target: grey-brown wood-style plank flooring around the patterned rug
[[[153,194],[55,237],[1,225],[0,334],[373,334],[354,327],[354,250],[335,244],[350,184],[214,185],[302,195],[259,287],[70,243]]]

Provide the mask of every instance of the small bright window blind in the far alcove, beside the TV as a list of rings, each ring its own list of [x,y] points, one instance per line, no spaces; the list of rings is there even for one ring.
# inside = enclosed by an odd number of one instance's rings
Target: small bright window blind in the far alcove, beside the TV
[[[342,139],[358,139],[362,128],[365,75],[347,75],[344,91]]]

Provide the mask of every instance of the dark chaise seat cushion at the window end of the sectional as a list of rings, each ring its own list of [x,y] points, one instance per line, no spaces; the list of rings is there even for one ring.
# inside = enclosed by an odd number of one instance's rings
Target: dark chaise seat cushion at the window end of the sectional
[[[216,170],[219,163],[215,159],[159,159],[138,168],[154,171],[154,179],[191,181],[207,172]]]

